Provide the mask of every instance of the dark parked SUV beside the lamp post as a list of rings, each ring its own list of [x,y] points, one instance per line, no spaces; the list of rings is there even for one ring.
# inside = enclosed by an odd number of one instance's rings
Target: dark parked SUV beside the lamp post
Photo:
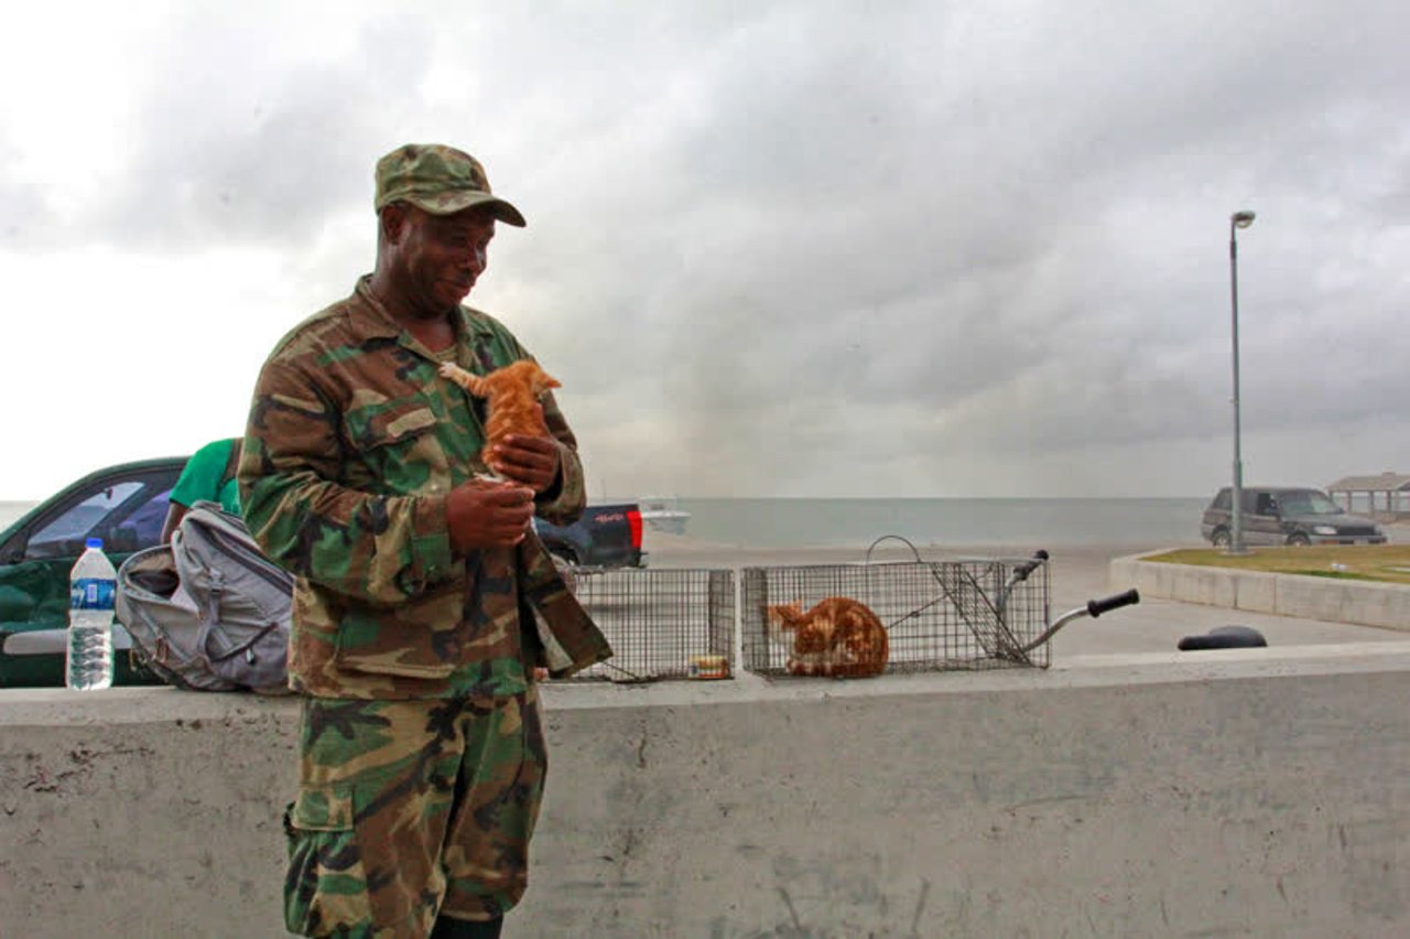
[[[1245,544],[1385,544],[1385,530],[1351,515],[1321,489],[1297,486],[1244,486],[1242,526]],[[1218,491],[1204,510],[1200,534],[1215,547],[1230,543],[1230,486]]]

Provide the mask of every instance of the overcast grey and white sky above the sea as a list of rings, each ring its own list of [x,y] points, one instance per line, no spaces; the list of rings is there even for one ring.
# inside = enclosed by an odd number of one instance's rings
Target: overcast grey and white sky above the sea
[[[241,433],[409,141],[595,498],[1208,495],[1239,209],[1245,481],[1410,472],[1402,0],[392,6],[7,14],[0,499]]]

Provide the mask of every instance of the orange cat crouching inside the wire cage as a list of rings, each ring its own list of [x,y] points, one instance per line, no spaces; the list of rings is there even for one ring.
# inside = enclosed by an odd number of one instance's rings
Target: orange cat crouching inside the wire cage
[[[863,678],[885,671],[885,626],[864,603],[829,596],[807,613],[798,603],[767,608],[768,620],[794,634],[788,671],[794,675]]]

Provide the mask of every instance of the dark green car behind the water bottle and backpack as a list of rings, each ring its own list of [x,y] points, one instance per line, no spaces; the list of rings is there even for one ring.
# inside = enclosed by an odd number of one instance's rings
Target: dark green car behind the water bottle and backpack
[[[63,685],[69,570],[83,541],[103,539],[120,567],[161,540],[168,496],[186,457],[141,460],[92,472],[41,502],[0,534],[0,688]],[[133,661],[114,626],[116,685],[159,685]]]

